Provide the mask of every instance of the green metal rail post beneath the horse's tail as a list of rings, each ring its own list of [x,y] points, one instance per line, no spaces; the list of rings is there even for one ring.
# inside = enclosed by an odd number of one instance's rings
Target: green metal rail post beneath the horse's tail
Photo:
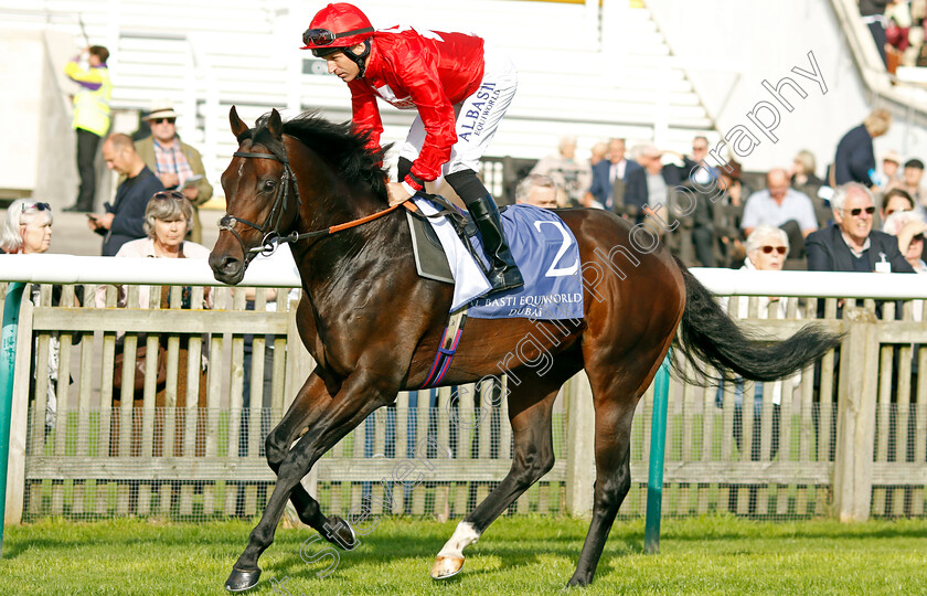
[[[667,445],[667,404],[670,401],[670,354],[663,359],[653,382],[653,417],[650,423],[650,471],[647,479],[647,521],[643,551],[660,552],[660,509],[663,502],[663,454]]]

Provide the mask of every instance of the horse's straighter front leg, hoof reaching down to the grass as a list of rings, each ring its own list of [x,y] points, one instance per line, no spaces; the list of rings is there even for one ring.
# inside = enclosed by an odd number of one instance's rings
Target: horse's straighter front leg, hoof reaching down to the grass
[[[307,385],[309,383],[307,382]],[[349,376],[334,396],[310,392],[306,400],[307,432],[284,457],[277,470],[277,485],[267,507],[248,538],[248,545],[235,562],[225,588],[243,592],[257,584],[260,568],[257,560],[274,542],[274,534],[287,500],[300,479],[309,473],[312,465],[334,444],[356,427],[371,412],[395,400],[398,384],[385,387],[383,380],[374,381],[369,374],[356,372]],[[303,386],[303,390],[306,387]],[[300,392],[302,397],[302,392]],[[315,499],[313,499],[315,501]],[[318,503],[316,503],[318,508]],[[324,535],[324,533],[323,533]]]

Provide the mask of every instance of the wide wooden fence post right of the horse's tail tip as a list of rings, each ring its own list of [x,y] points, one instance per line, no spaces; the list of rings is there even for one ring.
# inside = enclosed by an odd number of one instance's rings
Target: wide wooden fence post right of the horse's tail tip
[[[862,308],[846,309],[843,321],[848,332],[840,355],[833,493],[840,521],[854,522],[866,521],[872,507],[878,321]],[[829,423],[821,419],[819,425]]]

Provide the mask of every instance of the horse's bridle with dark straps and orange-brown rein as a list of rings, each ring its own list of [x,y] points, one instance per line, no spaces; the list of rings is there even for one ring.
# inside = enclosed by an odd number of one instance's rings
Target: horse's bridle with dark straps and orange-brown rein
[[[244,142],[245,139],[249,139],[251,137],[252,130],[245,130],[238,136],[238,145]],[[415,203],[413,203],[412,201],[405,201],[403,203],[398,203],[387,209],[384,209],[383,211],[377,211],[376,213],[373,213],[371,215],[366,215],[364,217],[360,217],[358,220],[353,220],[343,224],[326,227],[324,230],[316,230],[313,232],[305,232],[302,234],[292,232],[290,234],[287,234],[286,236],[281,236],[280,220],[284,216],[284,205],[287,200],[287,195],[290,193],[290,188],[292,188],[292,193],[296,194],[296,203],[298,206],[302,206],[302,200],[299,196],[299,184],[296,181],[296,173],[290,167],[289,158],[287,158],[286,147],[281,147],[280,155],[278,155],[277,151],[275,151],[270,147],[267,147],[266,145],[264,147],[268,151],[270,151],[270,153],[235,151],[234,153],[232,153],[232,156],[253,159],[273,159],[274,161],[279,161],[284,164],[284,173],[280,175],[280,184],[277,187],[277,193],[274,196],[274,206],[270,209],[270,213],[267,215],[267,220],[265,220],[263,225],[258,225],[254,222],[249,222],[242,217],[236,217],[226,213],[219,221],[220,232],[222,232],[223,230],[231,232],[238,240],[238,244],[242,245],[242,253],[245,254],[245,265],[251,263],[258,254],[263,254],[265,256],[271,254],[274,251],[277,249],[277,246],[280,243],[296,243],[301,240],[316,238],[334,234],[337,232],[341,232],[342,230],[355,227],[358,225],[362,225],[370,221],[382,217],[383,215],[395,211],[399,205],[404,205],[409,211],[417,211]],[[245,241],[235,230],[235,224],[237,223],[243,223],[264,234],[264,238],[260,241],[260,244],[251,249],[245,248]]]

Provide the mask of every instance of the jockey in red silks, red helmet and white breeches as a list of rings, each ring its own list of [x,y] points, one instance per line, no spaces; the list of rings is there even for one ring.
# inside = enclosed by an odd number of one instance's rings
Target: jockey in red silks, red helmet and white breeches
[[[360,9],[343,2],[320,10],[302,41],[348,84],[354,126],[370,132],[371,149],[380,147],[383,132],[377,97],[418,110],[399,151],[399,182],[387,184],[390,204],[444,175],[480,231],[493,291],[524,285],[496,202],[477,178],[518,87],[512,62],[475,35],[408,26],[375,31]]]

